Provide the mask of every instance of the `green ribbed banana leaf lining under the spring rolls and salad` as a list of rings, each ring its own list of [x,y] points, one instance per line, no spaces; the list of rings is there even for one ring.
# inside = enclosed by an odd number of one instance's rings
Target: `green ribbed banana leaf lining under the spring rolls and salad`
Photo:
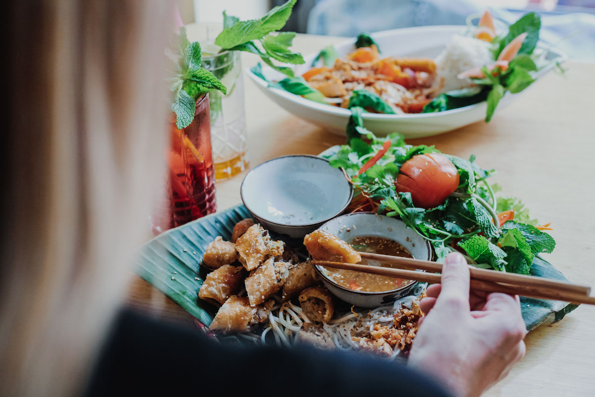
[[[200,266],[202,255],[215,237],[229,240],[234,225],[243,218],[250,218],[250,212],[243,205],[237,205],[162,233],[140,249],[137,274],[208,326],[217,307],[198,298],[198,290],[206,278],[206,271]],[[560,271],[540,257],[534,259],[531,274],[566,280]],[[548,320],[562,320],[575,308],[566,302],[521,298],[527,330]]]

